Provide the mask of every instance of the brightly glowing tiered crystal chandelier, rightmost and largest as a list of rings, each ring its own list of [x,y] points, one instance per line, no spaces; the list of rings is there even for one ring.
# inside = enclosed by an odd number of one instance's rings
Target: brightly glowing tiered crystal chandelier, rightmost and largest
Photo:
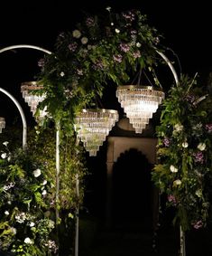
[[[155,90],[152,86],[125,85],[116,90],[116,97],[135,133],[143,132],[164,96],[162,90]]]

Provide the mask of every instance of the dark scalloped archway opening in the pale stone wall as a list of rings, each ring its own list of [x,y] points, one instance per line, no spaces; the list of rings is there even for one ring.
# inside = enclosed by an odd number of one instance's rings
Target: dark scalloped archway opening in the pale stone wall
[[[112,225],[114,228],[152,228],[152,182],[147,158],[137,149],[122,153],[114,164]]]

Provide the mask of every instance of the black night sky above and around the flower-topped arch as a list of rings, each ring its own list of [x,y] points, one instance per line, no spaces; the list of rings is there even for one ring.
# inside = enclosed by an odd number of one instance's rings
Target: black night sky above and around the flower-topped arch
[[[167,56],[174,62],[178,74],[180,68],[191,76],[212,68],[212,24],[207,1],[186,5],[185,1],[31,0],[5,1],[1,5],[0,48],[33,44],[53,52],[57,35],[71,31],[85,13],[99,14],[106,6],[111,6],[115,12],[137,8],[147,15],[148,24],[163,35],[161,43],[175,52],[173,55],[168,51]],[[29,49],[3,52],[0,56],[1,87],[21,100],[26,109],[20,85],[23,81],[33,81],[42,56],[42,52]],[[11,108],[14,112],[14,106]],[[5,109],[8,111],[7,107],[1,108],[1,115]]]

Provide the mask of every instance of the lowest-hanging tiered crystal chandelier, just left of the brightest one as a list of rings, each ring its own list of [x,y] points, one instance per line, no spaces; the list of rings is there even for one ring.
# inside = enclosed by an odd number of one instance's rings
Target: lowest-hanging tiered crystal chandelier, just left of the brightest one
[[[118,112],[114,109],[82,109],[75,119],[75,129],[89,156],[97,156],[117,120]]]

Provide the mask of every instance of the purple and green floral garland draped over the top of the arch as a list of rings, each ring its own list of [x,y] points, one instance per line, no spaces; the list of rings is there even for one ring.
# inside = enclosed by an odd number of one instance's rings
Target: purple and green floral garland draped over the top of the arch
[[[101,97],[107,84],[124,84],[140,69],[153,70],[160,37],[138,10],[115,14],[106,8],[102,16],[88,15],[60,33],[55,51],[39,61],[47,95],[40,107],[47,106],[53,118],[69,109],[71,118]]]

